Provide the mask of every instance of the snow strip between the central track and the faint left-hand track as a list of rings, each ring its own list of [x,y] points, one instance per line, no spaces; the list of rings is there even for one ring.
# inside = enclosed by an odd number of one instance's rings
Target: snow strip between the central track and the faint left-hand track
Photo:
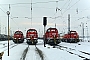
[[[27,45],[25,44],[18,44],[18,46],[10,49],[9,51],[9,56],[8,56],[8,51],[4,52],[4,57],[2,58],[3,60],[20,60],[21,55],[23,54],[23,51]]]

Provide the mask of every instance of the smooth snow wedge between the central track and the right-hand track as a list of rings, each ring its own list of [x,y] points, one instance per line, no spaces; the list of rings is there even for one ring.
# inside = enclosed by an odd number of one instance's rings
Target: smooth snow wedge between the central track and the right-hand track
[[[80,60],[80,58],[75,55],[71,55],[66,51],[53,48],[49,45],[46,45],[46,47],[37,45],[37,47],[44,53],[46,60]]]

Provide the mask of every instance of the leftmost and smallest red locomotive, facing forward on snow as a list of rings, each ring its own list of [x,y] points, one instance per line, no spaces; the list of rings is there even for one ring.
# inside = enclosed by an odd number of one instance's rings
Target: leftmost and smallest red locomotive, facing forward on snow
[[[14,43],[23,43],[24,42],[24,36],[23,36],[23,33],[21,31],[16,31],[14,33],[13,42]]]

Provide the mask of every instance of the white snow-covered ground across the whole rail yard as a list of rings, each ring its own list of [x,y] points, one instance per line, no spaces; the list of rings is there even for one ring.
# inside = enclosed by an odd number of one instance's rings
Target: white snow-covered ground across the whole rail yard
[[[83,60],[84,58],[79,57],[78,55],[90,58],[90,55],[81,53],[84,51],[90,53],[90,42],[79,42],[79,43],[65,43],[61,42],[59,44],[60,48],[53,48],[53,46],[46,45],[44,47],[43,40],[38,40],[36,45],[39,48],[43,55],[44,60]],[[0,41],[0,52],[4,51],[2,60],[20,60],[23,54],[23,51],[28,47],[27,43],[14,44],[13,41],[10,41],[10,55],[8,56],[7,51],[7,41]],[[58,46],[57,46],[58,47]],[[74,54],[70,54],[73,52]],[[34,45],[29,45],[29,49],[26,55],[25,60],[41,60],[39,54],[35,51]]]

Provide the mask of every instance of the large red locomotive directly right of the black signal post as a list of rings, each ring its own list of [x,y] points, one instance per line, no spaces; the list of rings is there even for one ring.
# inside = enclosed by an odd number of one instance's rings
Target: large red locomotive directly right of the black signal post
[[[48,28],[44,37],[47,44],[59,44],[61,42],[56,28]]]

